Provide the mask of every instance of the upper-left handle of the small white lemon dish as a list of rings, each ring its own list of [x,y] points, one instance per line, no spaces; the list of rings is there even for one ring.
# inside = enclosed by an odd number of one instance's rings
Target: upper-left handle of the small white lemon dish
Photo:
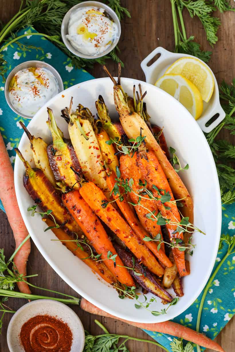
[[[149,61],[151,61],[157,54],[160,54],[160,56],[157,57],[156,60],[150,66],[148,66]],[[153,73],[153,70],[155,69],[156,64],[159,64],[161,61],[165,60],[168,57],[172,57],[172,54],[172,52],[162,48],[162,46],[158,46],[156,49],[150,52],[150,54],[145,59],[143,59],[140,65],[144,72],[147,83],[150,83],[151,81],[151,75]]]

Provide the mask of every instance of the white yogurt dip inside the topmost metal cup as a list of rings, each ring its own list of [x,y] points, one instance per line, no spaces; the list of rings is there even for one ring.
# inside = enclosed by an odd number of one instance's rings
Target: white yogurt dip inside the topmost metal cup
[[[78,8],[70,15],[66,38],[86,55],[102,54],[114,42],[118,27],[105,10],[98,7]]]

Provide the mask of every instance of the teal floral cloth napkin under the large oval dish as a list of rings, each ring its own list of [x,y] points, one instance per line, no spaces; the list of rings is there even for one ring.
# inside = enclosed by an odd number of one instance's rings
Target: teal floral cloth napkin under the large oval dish
[[[26,34],[26,37],[20,39],[18,43],[16,42],[9,45],[7,49],[3,51],[4,59],[6,59],[8,63],[6,75],[21,62],[41,60],[52,64],[60,73],[65,89],[76,83],[94,78],[85,70],[75,69],[72,66],[70,58],[47,39],[41,36],[31,36],[31,33],[34,32],[36,33],[36,30],[32,27],[20,30],[17,33],[18,36]],[[31,46],[36,46],[37,49],[32,49]],[[4,83],[2,78],[0,78],[0,132],[4,138],[13,165],[15,159],[13,149],[18,146],[19,140],[23,134],[23,130],[19,124],[20,121],[23,121],[25,125],[29,123],[29,120],[14,114],[8,107],[4,96]],[[1,203],[0,208],[4,210]],[[230,236],[235,235],[235,203],[223,206],[222,214],[222,234],[229,234]],[[227,245],[224,245],[222,250],[219,250],[214,270],[227,253],[227,247]],[[216,337],[235,313],[234,268],[235,254],[231,254],[216,274],[206,295],[200,323],[200,332],[203,332],[212,339]],[[203,293],[190,308],[173,321],[196,329],[198,308],[202,295]],[[172,336],[150,331],[146,331],[146,333],[171,351],[170,343],[173,339]],[[196,348],[194,349],[196,351]]]

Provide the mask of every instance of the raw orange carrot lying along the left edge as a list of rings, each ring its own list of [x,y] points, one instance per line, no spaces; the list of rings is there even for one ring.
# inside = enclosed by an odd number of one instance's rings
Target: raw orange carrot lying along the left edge
[[[0,199],[6,211],[8,221],[11,225],[17,248],[29,232],[27,231],[27,228],[20,214],[14,187],[14,172],[1,134],[0,170]],[[23,274],[23,276],[26,276],[26,263],[29,257],[29,253],[30,240],[27,240],[14,257],[14,264],[16,265],[19,274]],[[17,285],[20,292],[26,294],[31,293],[29,286],[25,282],[18,282]]]

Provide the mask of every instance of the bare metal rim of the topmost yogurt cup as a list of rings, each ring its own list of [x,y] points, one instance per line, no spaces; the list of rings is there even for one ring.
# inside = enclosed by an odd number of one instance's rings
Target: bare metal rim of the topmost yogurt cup
[[[76,10],[77,8],[88,7],[88,6],[95,6],[95,7],[103,8],[110,15],[110,17],[113,19],[114,23],[116,23],[116,25],[118,26],[118,35],[117,35],[116,39],[114,40],[114,42],[104,52],[102,52],[101,54],[97,54],[97,55],[82,54],[82,52],[76,50],[73,47],[73,45],[69,42],[69,40],[66,38],[66,35],[68,34],[68,23],[69,23],[71,13],[74,10]],[[111,9],[111,7],[109,7],[106,4],[103,4],[102,2],[99,2],[99,1],[84,1],[84,2],[80,2],[80,4],[77,4],[73,7],[71,7],[70,10],[64,15],[64,18],[63,18],[63,21],[61,24],[61,37],[62,37],[64,45],[74,55],[81,57],[81,58],[84,58],[84,59],[98,59],[99,57],[102,57],[102,56],[109,54],[110,51],[112,51],[116,47],[117,43],[119,42],[120,35],[121,35],[121,24],[120,24],[119,18],[117,17],[117,14]]]

